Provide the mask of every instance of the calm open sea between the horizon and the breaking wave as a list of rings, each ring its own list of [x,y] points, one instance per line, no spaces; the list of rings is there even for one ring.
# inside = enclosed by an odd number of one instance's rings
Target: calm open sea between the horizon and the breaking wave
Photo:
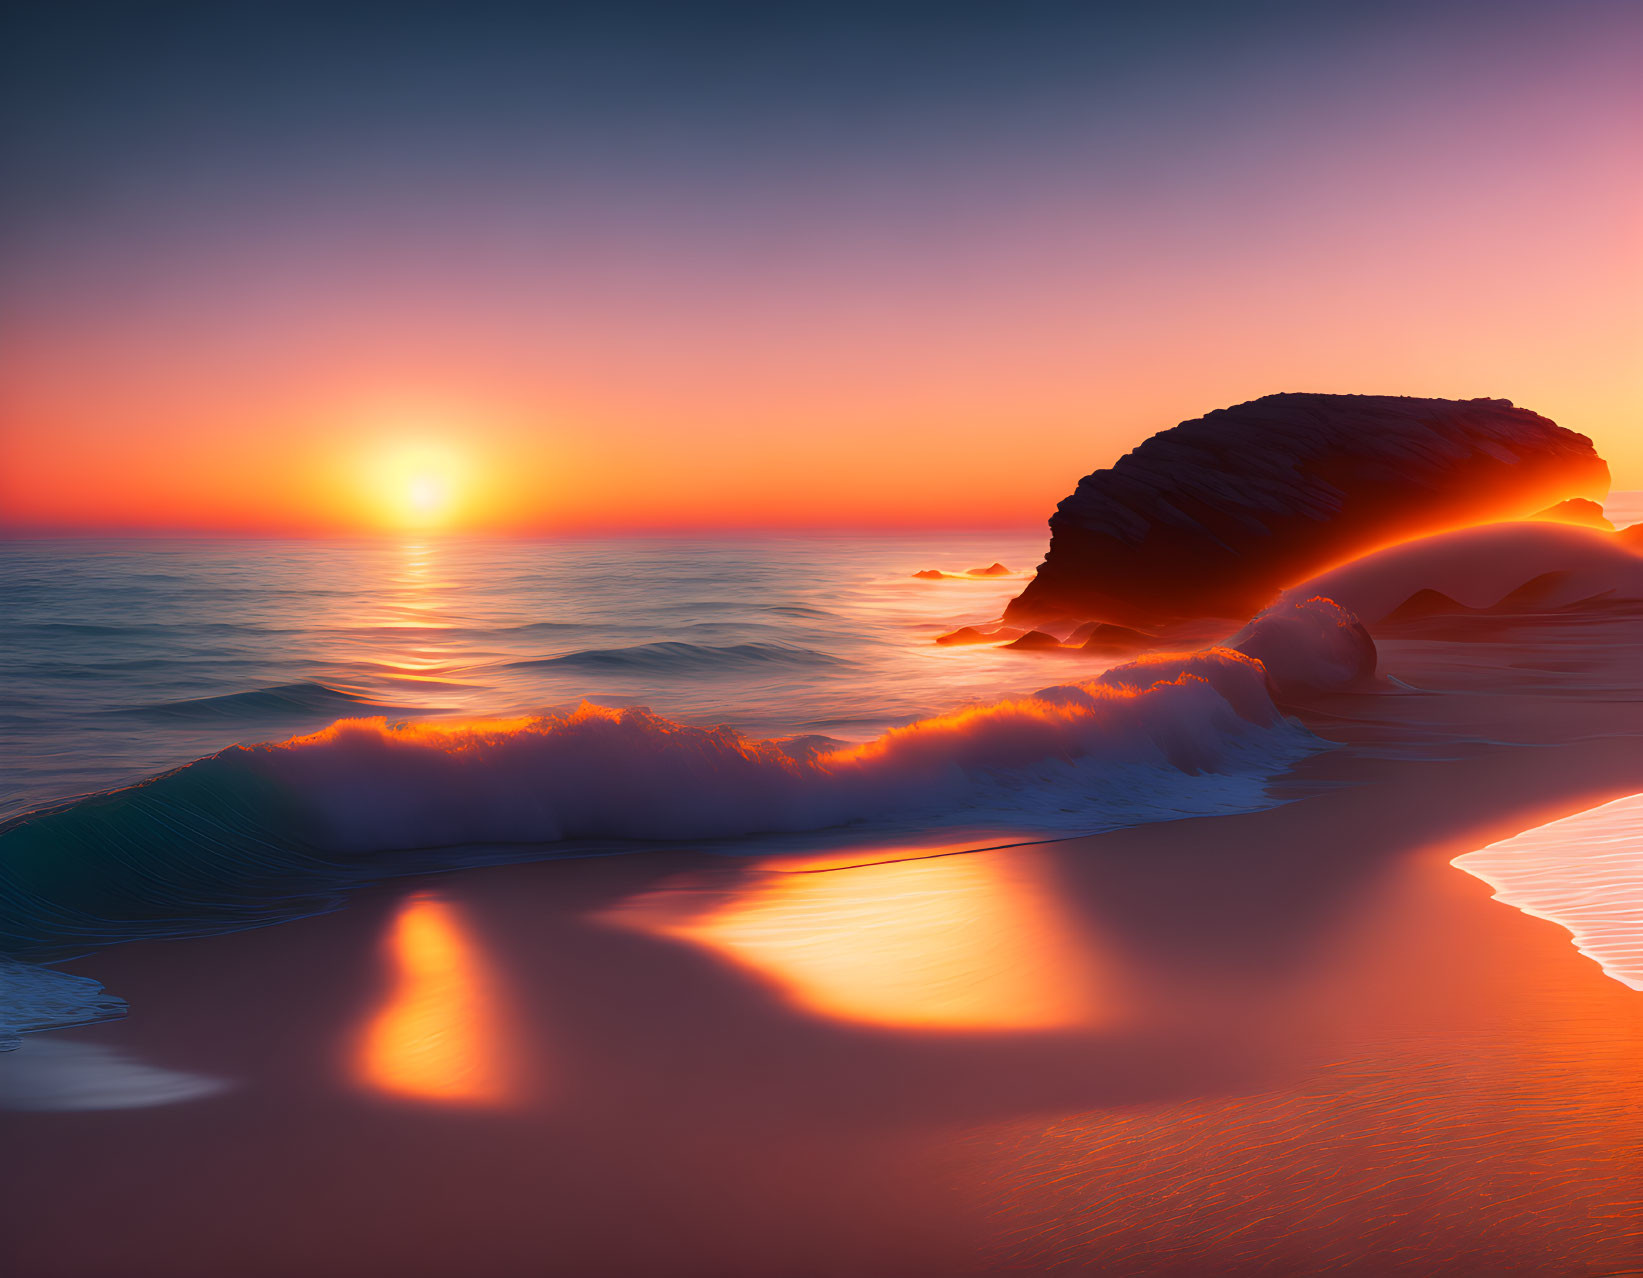
[[[930,642],[1042,532],[702,540],[0,542],[0,816],[338,718],[590,698],[868,738],[1040,687]],[[1002,562],[1010,577],[912,573]]]

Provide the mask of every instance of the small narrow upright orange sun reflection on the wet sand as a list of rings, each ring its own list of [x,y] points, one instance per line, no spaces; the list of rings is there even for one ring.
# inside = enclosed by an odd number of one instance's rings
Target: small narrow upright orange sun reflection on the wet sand
[[[427,894],[409,897],[386,951],[394,984],[360,1038],[360,1083],[445,1104],[518,1099],[496,979],[457,907]]]

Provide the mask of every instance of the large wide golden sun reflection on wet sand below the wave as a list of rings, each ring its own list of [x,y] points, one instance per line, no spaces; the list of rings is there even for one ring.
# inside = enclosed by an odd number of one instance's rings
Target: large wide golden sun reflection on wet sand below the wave
[[[677,936],[840,1020],[1065,1030],[1109,1018],[1089,945],[1025,853],[759,872],[729,894],[646,894],[610,922]]]

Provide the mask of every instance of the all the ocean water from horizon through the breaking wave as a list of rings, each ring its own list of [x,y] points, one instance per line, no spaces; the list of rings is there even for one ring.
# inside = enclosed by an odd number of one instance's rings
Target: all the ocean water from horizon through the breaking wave
[[[1324,747],[1237,654],[935,644],[996,619],[1038,549],[7,544],[0,954],[278,922],[498,861],[1247,811]]]

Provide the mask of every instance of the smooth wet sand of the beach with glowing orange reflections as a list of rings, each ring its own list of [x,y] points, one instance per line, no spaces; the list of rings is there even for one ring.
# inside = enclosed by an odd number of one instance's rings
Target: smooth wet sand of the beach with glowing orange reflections
[[[1643,995],[1449,861],[1643,790],[1643,636],[1508,637],[1383,641],[1426,692],[1309,710],[1349,744],[1262,813],[470,871],[81,959],[130,1017],[13,1058],[199,1091],[13,1086],[8,1271],[1640,1268]]]

